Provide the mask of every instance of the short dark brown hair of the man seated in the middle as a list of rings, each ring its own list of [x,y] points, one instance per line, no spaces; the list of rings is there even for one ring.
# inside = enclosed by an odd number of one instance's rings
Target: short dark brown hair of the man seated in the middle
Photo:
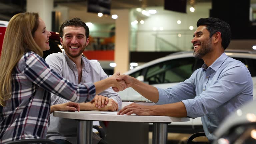
[[[86,38],[89,37],[89,33],[90,33],[89,28],[83,21],[81,21],[80,18],[70,18],[61,24],[60,30],[59,30],[59,34],[60,34],[61,38],[63,37],[63,29],[66,26],[84,27],[85,36],[86,36]]]

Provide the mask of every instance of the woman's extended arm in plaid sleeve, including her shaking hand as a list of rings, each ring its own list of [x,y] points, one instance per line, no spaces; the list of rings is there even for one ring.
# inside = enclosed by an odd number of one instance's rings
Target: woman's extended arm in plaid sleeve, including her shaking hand
[[[28,53],[29,54],[29,53]],[[120,89],[124,86],[116,80],[118,74],[100,82],[76,85],[51,70],[46,62],[37,54],[31,53],[26,58],[25,76],[34,84],[65,99],[74,102],[91,101],[95,94],[116,85]]]

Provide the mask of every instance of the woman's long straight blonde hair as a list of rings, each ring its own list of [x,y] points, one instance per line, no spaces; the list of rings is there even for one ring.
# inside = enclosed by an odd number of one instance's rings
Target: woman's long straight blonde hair
[[[21,57],[29,51],[43,55],[43,51],[33,39],[38,25],[38,14],[31,12],[16,14],[8,23],[0,57],[1,106],[5,106],[5,100],[11,97],[12,73]]]

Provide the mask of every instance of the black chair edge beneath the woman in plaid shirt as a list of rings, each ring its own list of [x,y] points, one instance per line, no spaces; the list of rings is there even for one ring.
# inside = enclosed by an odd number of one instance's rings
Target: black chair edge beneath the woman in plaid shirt
[[[57,144],[56,142],[49,139],[22,139],[16,141],[10,141],[6,144]]]

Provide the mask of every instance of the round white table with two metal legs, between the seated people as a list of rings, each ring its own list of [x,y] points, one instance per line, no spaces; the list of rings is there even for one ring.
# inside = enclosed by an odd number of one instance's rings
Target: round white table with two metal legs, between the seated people
[[[175,118],[168,116],[139,116],[117,115],[117,112],[80,111],[62,112],[55,111],[53,116],[78,120],[77,143],[92,143],[92,121],[119,121],[119,122],[149,122],[153,123],[152,144],[166,144],[168,123],[185,122],[190,118]]]

